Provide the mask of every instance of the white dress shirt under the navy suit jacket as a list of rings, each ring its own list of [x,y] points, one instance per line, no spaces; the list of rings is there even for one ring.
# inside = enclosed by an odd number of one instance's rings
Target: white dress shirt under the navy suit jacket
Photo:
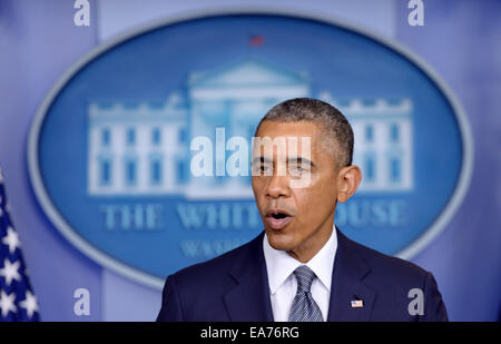
[[[275,322],[287,322],[294,297],[297,292],[297,281],[293,272],[299,265],[307,265],[317,276],[312,284],[312,296],[322,311],[324,322],[327,320],[331,301],[331,281],[334,258],[337,249],[336,230],[324,247],[307,263],[301,263],[287,252],[273,248],[268,237],[264,236],[263,250],[268,273],[269,297],[272,302],[273,318]]]

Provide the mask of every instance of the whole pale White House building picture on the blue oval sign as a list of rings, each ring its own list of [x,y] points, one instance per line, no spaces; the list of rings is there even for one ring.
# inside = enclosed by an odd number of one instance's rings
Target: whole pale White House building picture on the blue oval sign
[[[191,72],[186,91],[170,94],[165,102],[92,101],[88,108],[88,193],[252,198],[249,177],[191,176],[191,138],[205,136],[214,142],[215,129],[225,128],[226,139],[240,136],[250,142],[264,114],[295,97],[312,97],[306,72],[246,59]],[[411,100],[336,101],[328,92],[317,98],[336,106],[352,124],[354,163],[364,176],[360,191],[412,189]]]

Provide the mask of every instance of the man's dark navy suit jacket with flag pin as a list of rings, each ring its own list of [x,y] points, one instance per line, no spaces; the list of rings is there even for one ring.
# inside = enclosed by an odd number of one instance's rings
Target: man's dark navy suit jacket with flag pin
[[[336,232],[327,321],[448,321],[431,273]],[[273,322],[263,236],[168,276],[157,321]],[[423,315],[407,311],[412,288],[423,291]],[[352,307],[353,299],[363,307]]]

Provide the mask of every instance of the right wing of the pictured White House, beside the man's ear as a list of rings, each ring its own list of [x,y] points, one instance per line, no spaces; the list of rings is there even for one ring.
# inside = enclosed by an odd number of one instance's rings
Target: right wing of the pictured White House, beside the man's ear
[[[362,168],[360,191],[413,189],[412,101],[351,99],[336,101],[328,92],[318,99],[335,106],[355,137],[353,164]]]

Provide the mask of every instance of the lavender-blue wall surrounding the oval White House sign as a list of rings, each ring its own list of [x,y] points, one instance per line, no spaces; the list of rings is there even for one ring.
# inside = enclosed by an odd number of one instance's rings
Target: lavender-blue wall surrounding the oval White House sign
[[[0,57],[0,165],[42,320],[148,321],[155,317],[160,302],[158,291],[104,271],[70,246],[41,212],[27,175],[26,145],[35,111],[69,66],[100,43],[112,28],[121,31],[124,23],[116,14],[109,14],[112,2],[90,1],[94,20],[88,28],[73,26],[75,10],[70,1],[0,2],[0,50],[7,52]],[[497,154],[501,144],[501,119],[497,116],[501,109],[498,97],[501,42],[494,37],[501,31],[501,24],[494,16],[501,4],[499,1],[477,4],[424,1],[425,26],[410,27],[405,1],[383,2],[385,11],[375,10],[373,17],[367,17],[371,4],[364,1],[358,4],[364,8],[365,3],[366,8],[358,12],[348,4],[344,4],[343,10],[341,1],[336,6],[314,1],[311,10],[345,16],[393,37],[429,62],[464,106],[474,137],[475,160],[470,188],[446,228],[412,261],[435,275],[451,320],[495,321],[501,305],[501,216],[498,212],[501,157]],[[225,1],[214,3],[227,4]],[[240,1],[243,6],[248,3],[255,1]],[[165,14],[197,9],[183,8],[176,2],[168,10],[156,1],[151,1],[151,6],[158,6]],[[277,2],[277,6],[301,8],[302,4]],[[134,6],[122,7],[129,16],[136,10]],[[149,18],[143,12],[136,17],[141,16]],[[108,21],[104,22],[106,18]],[[372,20],[386,20],[391,24]],[[158,89],[158,97],[165,88],[168,85]],[[73,314],[72,294],[79,287],[90,291],[91,315],[87,317]],[[138,299],[131,301],[137,312],[122,314],[121,304],[130,295]]]

